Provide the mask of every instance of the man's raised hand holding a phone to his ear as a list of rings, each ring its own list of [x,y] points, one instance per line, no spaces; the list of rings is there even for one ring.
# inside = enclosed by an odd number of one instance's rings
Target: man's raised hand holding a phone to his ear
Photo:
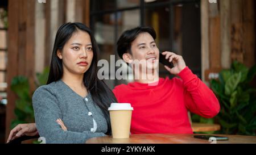
[[[163,55],[166,56],[166,59],[169,59],[169,62],[174,64],[173,68],[168,68],[168,66],[164,66],[171,74],[179,74],[181,70],[186,67],[185,61],[183,60],[182,56],[176,55],[172,52],[163,52]]]

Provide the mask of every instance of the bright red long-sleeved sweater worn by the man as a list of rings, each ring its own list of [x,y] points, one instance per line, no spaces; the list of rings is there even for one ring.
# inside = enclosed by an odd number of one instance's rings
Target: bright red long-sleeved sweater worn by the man
[[[158,85],[131,82],[113,90],[119,103],[131,103],[131,133],[193,133],[188,110],[213,118],[220,111],[218,99],[186,67],[181,78],[160,78]]]

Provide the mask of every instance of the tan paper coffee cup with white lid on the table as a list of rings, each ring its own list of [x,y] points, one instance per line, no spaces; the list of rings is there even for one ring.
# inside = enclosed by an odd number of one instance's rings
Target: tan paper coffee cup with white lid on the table
[[[133,107],[130,103],[111,103],[108,108],[113,139],[130,137],[131,114]]]

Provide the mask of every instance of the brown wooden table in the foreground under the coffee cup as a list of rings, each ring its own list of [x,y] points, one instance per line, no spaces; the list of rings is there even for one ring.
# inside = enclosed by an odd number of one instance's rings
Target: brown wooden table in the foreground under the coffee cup
[[[199,135],[199,134],[195,134]],[[256,136],[216,135],[225,136],[229,140],[216,141],[217,144],[256,144]],[[208,140],[195,139],[192,134],[138,134],[129,139],[112,139],[111,136],[94,137],[86,144],[210,144]]]

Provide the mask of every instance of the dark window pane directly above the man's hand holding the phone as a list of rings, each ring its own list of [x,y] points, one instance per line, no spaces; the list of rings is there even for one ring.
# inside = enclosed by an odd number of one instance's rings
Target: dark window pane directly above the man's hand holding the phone
[[[174,51],[182,55],[186,65],[201,78],[200,7],[187,3],[174,8]]]

